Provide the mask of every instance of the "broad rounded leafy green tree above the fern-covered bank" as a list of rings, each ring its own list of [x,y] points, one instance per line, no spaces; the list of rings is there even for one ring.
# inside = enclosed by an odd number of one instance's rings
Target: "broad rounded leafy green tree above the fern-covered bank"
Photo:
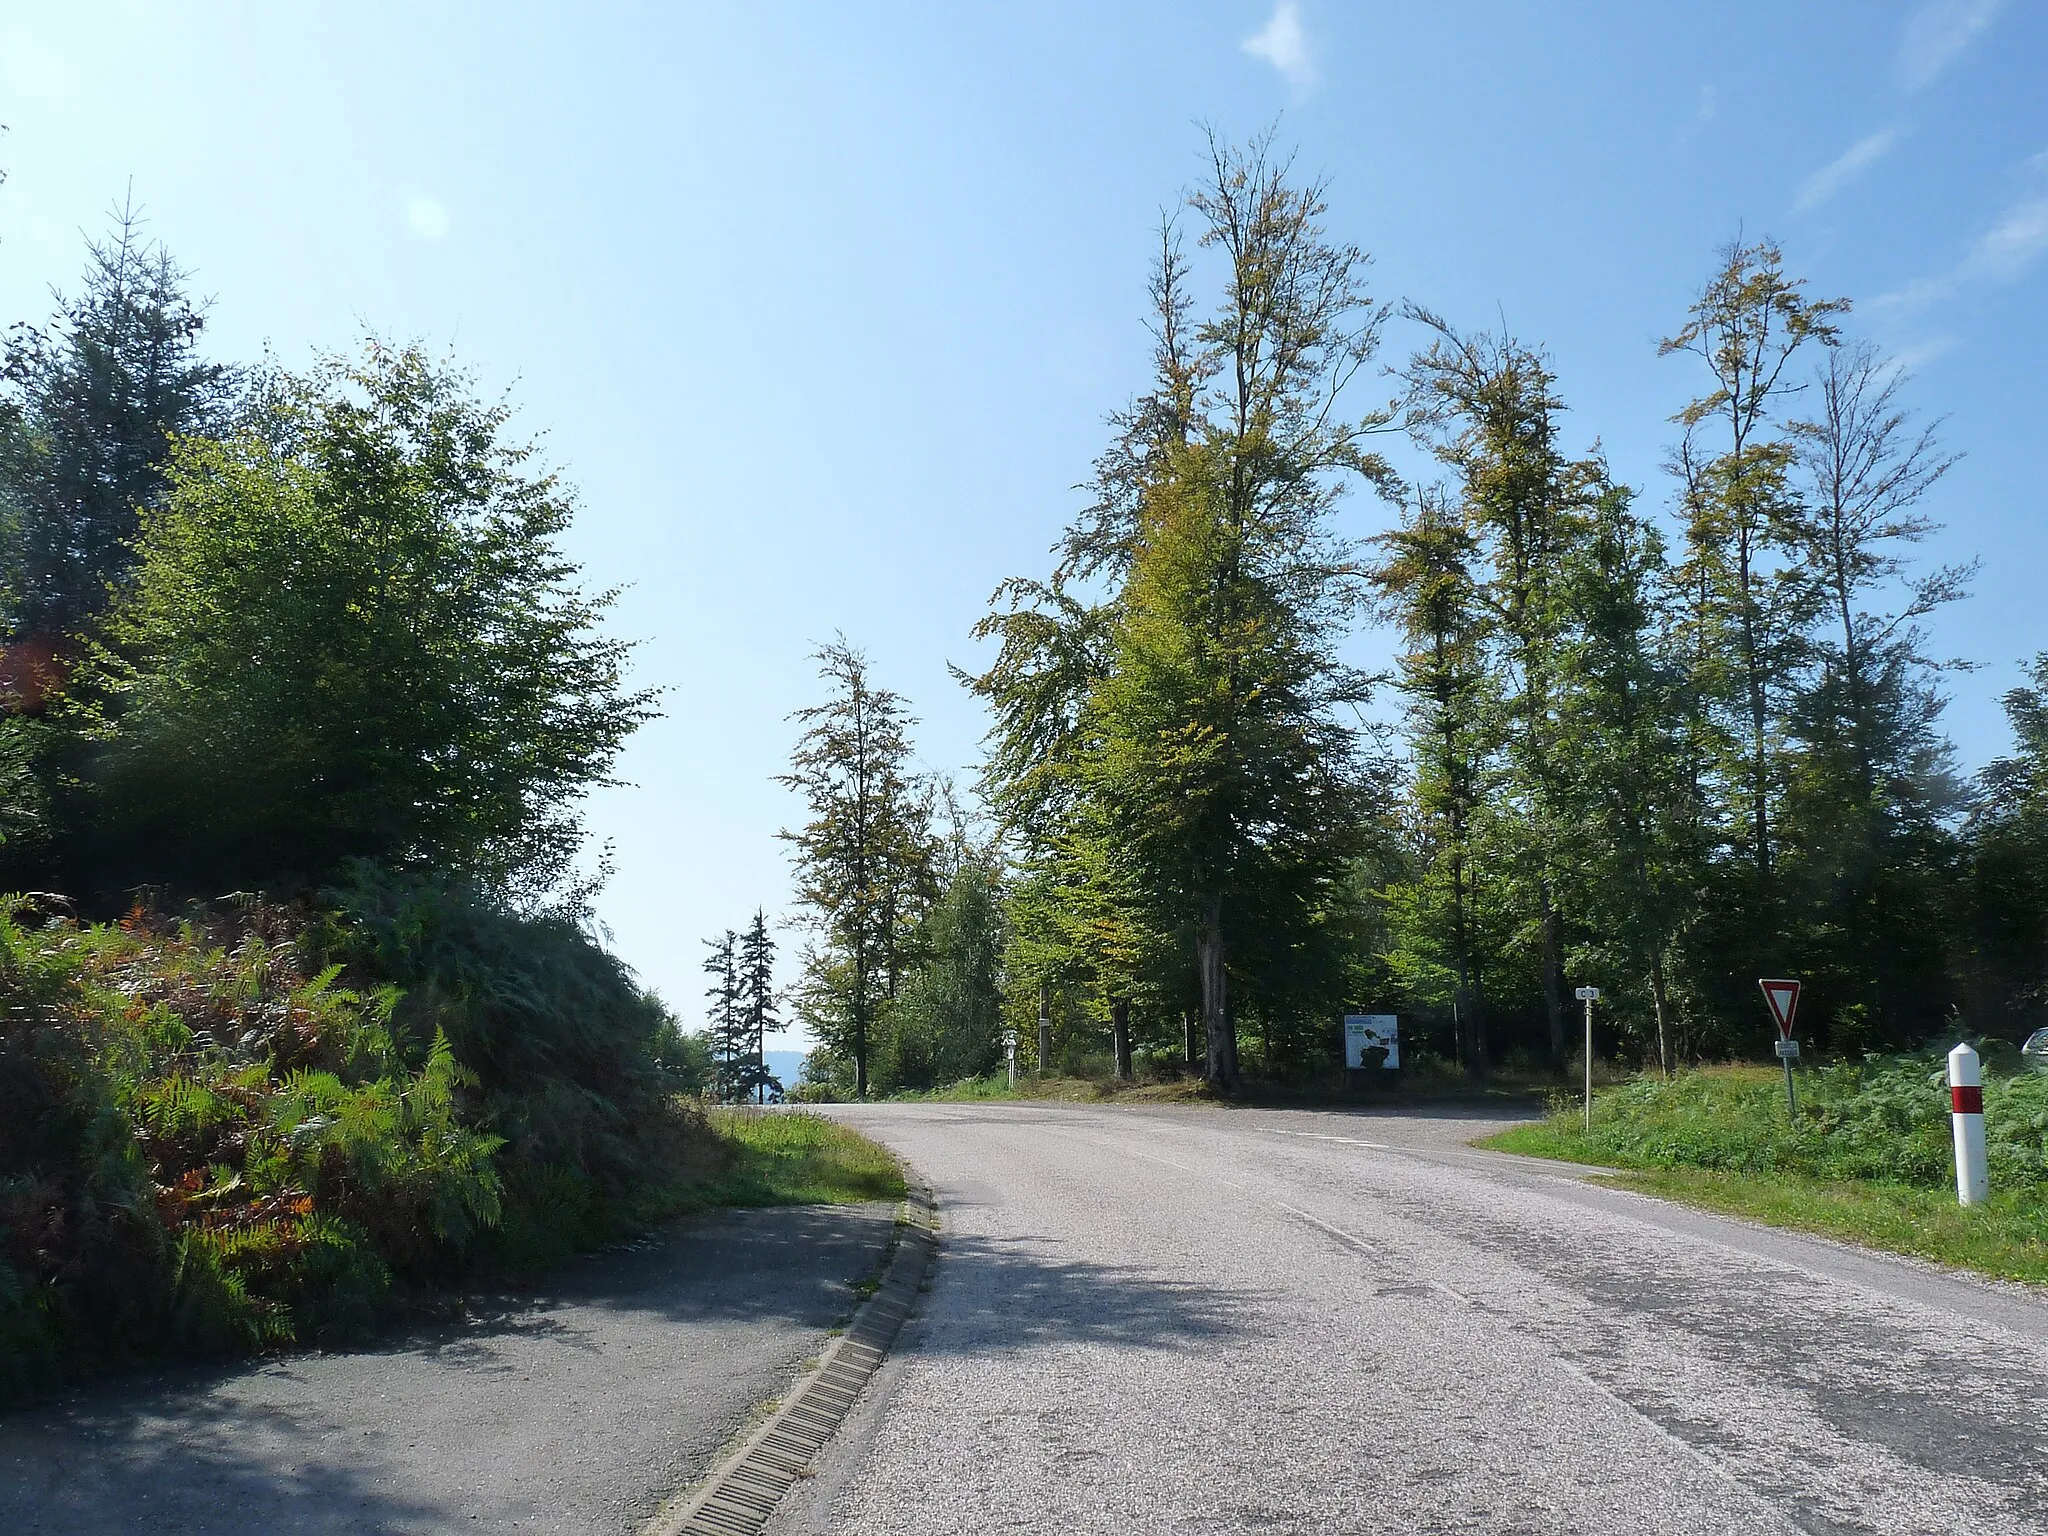
[[[289,887],[354,858],[537,899],[651,690],[559,547],[567,487],[416,350],[180,438],[109,614],[102,887]]]

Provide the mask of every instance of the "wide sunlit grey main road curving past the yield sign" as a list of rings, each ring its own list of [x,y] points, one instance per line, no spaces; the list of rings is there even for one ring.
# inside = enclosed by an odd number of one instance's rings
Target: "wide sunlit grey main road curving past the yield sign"
[[[1468,1151],[1483,1120],[840,1110],[926,1305],[770,1530],[2048,1532],[2048,1300]]]

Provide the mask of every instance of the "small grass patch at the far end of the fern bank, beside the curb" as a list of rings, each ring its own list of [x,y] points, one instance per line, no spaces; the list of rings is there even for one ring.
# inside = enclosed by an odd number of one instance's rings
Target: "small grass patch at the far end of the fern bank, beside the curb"
[[[901,1200],[903,1165],[852,1126],[801,1110],[709,1110],[725,1151],[705,1206],[807,1206]]]

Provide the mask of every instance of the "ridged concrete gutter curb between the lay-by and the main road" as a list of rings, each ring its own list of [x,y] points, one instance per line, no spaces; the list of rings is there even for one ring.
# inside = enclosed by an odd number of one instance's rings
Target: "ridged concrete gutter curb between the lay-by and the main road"
[[[897,1217],[901,1235],[881,1286],[868,1296],[786,1403],[682,1503],[641,1526],[641,1536],[756,1536],[846,1421],[889,1354],[938,1255],[938,1206],[911,1186]]]

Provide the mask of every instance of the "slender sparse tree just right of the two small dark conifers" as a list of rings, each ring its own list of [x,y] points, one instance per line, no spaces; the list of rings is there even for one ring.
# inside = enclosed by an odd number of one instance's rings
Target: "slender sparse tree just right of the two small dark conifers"
[[[909,930],[936,895],[932,786],[909,766],[915,721],[901,694],[874,688],[866,655],[844,637],[815,655],[831,696],[793,717],[805,729],[776,780],[811,815],[782,831],[819,934],[801,997],[813,1032],[852,1057],[854,1094],[866,1098],[877,1010],[895,995]]]

